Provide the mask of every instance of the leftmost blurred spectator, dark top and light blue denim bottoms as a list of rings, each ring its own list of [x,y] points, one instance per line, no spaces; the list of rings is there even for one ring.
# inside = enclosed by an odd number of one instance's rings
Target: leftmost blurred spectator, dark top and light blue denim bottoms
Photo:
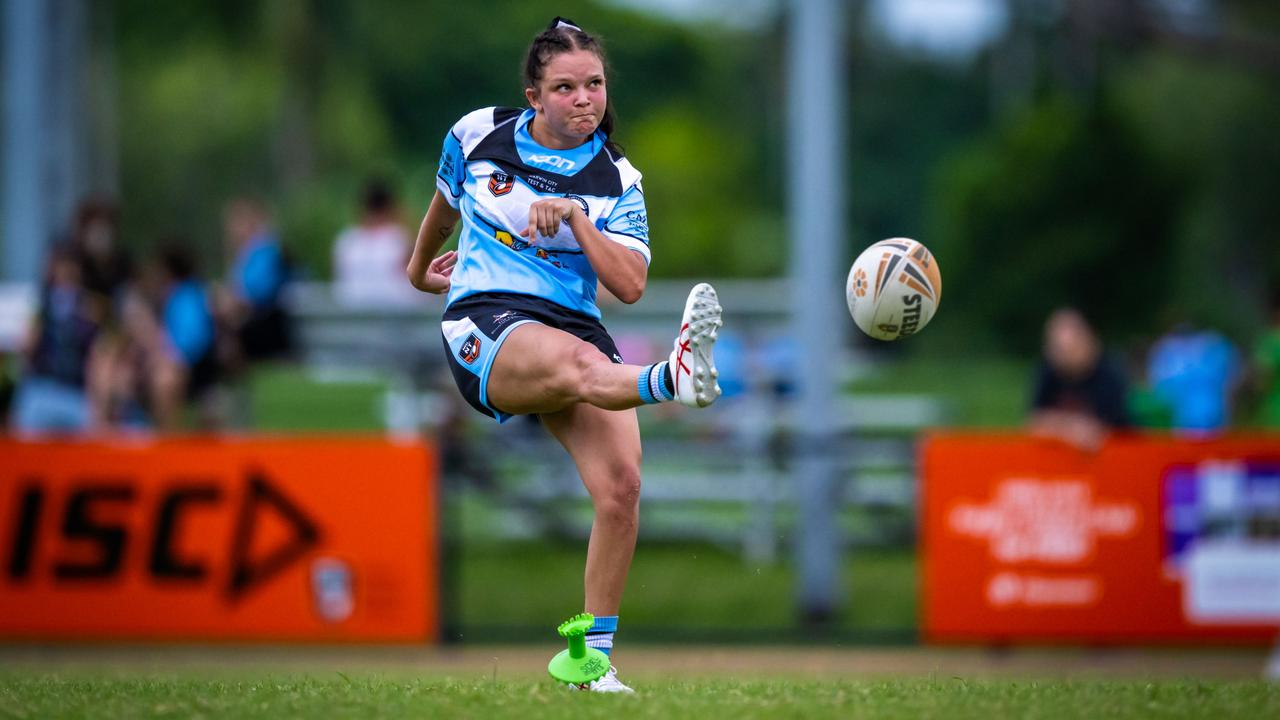
[[[90,427],[88,357],[106,313],[105,300],[84,288],[77,254],[55,247],[23,352],[26,368],[13,401],[15,430],[82,432]]]

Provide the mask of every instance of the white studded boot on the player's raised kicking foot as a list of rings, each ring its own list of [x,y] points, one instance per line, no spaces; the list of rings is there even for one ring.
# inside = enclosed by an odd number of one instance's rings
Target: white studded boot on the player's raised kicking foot
[[[707,407],[719,397],[719,372],[712,357],[716,331],[723,325],[716,288],[698,283],[689,291],[680,334],[671,350],[668,369],[676,386],[676,400],[690,407]]]

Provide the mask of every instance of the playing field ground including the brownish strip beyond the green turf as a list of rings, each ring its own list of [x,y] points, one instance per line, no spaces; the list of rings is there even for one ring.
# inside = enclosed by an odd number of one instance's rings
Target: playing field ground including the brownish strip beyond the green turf
[[[567,693],[540,675],[549,653],[10,648],[0,717],[1280,716],[1280,685],[1231,679],[1257,660],[1238,652],[648,648],[635,697]]]

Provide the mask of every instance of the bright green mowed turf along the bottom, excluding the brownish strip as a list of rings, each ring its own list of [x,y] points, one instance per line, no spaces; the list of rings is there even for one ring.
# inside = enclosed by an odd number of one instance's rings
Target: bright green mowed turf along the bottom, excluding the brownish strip
[[[282,675],[63,676],[0,671],[4,717],[1280,717],[1262,682],[703,680],[634,697],[550,682]]]

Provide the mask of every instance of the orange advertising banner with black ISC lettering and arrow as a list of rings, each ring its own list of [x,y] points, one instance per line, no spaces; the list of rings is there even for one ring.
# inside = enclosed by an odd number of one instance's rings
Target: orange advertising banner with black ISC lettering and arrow
[[[421,442],[0,439],[0,638],[435,639],[434,473]]]

